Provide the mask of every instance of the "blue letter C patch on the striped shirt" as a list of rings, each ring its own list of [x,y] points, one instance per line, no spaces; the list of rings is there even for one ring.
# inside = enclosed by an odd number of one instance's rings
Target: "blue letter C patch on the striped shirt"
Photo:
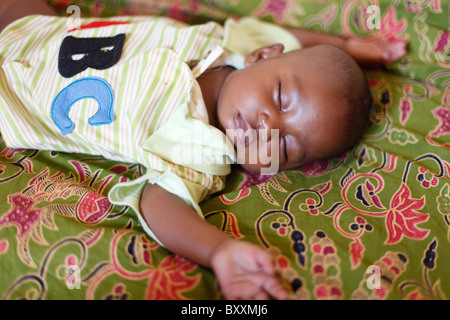
[[[114,96],[108,82],[97,77],[76,80],[59,92],[53,100],[51,117],[62,135],[75,128],[69,118],[69,110],[80,99],[94,98],[99,104],[98,111],[89,118],[91,126],[110,124],[114,121]]]

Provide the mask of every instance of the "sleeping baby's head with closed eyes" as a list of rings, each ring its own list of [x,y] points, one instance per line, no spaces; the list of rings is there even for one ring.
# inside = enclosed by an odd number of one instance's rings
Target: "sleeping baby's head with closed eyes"
[[[335,156],[357,141],[368,122],[370,90],[350,56],[331,45],[283,49],[275,44],[254,51],[219,96],[218,127],[250,172]]]

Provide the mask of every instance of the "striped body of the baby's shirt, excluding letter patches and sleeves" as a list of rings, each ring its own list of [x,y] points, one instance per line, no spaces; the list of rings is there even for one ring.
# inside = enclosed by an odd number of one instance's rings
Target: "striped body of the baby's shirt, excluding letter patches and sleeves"
[[[69,30],[67,19],[29,16],[2,33],[0,128],[7,145],[137,162],[160,172],[170,170],[210,191],[220,190],[222,179],[171,163],[142,146],[180,105],[189,103],[194,82],[189,62],[201,61],[219,47],[223,28],[216,23],[188,26],[157,17],[88,18],[81,25],[100,21],[110,25]],[[115,65],[105,70],[87,68],[71,78],[59,74],[58,55],[65,37],[118,34],[126,38]],[[91,126],[88,119],[98,110],[98,102],[80,99],[68,111],[75,128],[62,135],[51,117],[53,100],[71,83],[86,77],[104,79],[111,86],[115,120]],[[196,108],[204,105],[189,106],[193,113],[204,113]]]

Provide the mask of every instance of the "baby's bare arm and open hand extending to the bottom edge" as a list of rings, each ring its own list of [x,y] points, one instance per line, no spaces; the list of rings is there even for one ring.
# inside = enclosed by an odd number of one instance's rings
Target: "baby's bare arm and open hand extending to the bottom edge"
[[[257,245],[236,240],[205,220],[177,196],[148,184],[141,212],[159,241],[173,253],[212,268],[227,299],[284,299],[273,257]]]

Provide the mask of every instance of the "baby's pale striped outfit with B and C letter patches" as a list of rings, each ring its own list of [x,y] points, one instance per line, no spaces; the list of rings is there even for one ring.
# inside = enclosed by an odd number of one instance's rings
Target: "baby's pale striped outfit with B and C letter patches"
[[[208,124],[196,78],[211,67],[242,65],[247,52],[227,49],[236,47],[233,33],[248,44],[233,21],[224,31],[214,22],[189,26],[164,17],[87,18],[72,29],[62,17],[20,19],[0,34],[3,139],[13,148],[142,164],[145,175],[113,187],[112,203],[139,213],[145,184],[157,183],[201,214],[198,203],[224,187],[235,155]],[[275,42],[255,39],[246,50]]]

